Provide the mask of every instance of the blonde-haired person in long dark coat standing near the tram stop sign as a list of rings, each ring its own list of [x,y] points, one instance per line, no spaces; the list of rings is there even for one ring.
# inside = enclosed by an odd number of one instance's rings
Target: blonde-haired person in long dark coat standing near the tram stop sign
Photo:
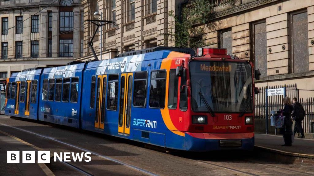
[[[284,127],[280,128],[280,134],[284,137],[284,145],[282,146],[292,146],[292,119],[291,112],[293,111],[293,106],[291,105],[291,101],[289,97],[284,97],[284,109],[282,110],[284,119]]]

